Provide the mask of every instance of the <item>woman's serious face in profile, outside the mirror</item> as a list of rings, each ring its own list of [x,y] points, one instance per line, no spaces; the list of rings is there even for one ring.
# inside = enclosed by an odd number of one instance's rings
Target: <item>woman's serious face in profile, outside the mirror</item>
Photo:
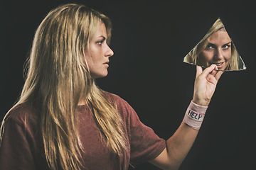
[[[100,28],[90,40],[89,48],[85,49],[85,60],[90,69],[93,78],[106,77],[109,67],[109,57],[114,52],[107,45],[107,30],[103,22],[100,22]]]

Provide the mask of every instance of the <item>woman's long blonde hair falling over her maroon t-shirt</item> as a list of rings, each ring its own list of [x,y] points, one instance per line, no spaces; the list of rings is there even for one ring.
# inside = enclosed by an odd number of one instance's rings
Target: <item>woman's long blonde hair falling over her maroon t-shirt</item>
[[[14,107],[26,103],[40,111],[44,151],[51,169],[82,167],[80,151],[86,148],[80,144],[75,116],[81,100],[90,106],[107,147],[119,156],[127,149],[122,118],[110,98],[95,85],[85,61],[85,47],[101,21],[107,28],[109,43],[110,19],[78,4],[50,11],[36,30],[26,81]]]

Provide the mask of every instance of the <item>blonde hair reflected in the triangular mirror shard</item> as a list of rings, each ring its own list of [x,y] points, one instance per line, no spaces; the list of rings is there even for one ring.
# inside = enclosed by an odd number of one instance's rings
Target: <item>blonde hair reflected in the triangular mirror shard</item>
[[[199,55],[201,54],[201,52],[203,52],[203,50],[206,49],[206,46],[208,45],[211,35],[213,35],[213,33],[217,32],[218,30],[221,30],[221,29],[225,29],[225,26],[223,25],[220,18],[218,18],[217,21],[215,21],[215,23],[213,23],[213,26],[210,28],[210,30],[208,30],[208,33],[206,33],[206,35],[203,37],[203,39],[200,42],[198,42],[196,47],[194,47],[188,53],[188,55],[184,58],[184,62],[201,65],[198,62]],[[243,62],[240,59],[240,55],[238,54],[238,51],[236,50],[235,45],[231,41],[230,62],[228,62],[228,65],[225,68],[225,70],[243,69],[243,66],[241,64],[243,64]]]

